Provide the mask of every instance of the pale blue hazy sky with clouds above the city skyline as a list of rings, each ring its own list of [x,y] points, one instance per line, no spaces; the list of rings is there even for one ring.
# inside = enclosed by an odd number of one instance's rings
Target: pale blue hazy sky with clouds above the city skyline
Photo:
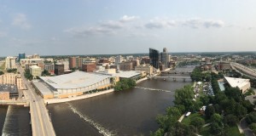
[[[0,0],[0,56],[256,51],[255,0]]]

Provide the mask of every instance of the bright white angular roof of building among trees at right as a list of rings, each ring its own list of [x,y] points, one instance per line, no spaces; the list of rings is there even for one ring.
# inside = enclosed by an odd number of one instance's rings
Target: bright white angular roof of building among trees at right
[[[229,82],[230,86],[232,88],[241,88],[245,85],[247,85],[247,83],[250,83],[249,79],[244,79],[244,78],[234,78],[234,77],[224,77],[226,79],[227,82]]]

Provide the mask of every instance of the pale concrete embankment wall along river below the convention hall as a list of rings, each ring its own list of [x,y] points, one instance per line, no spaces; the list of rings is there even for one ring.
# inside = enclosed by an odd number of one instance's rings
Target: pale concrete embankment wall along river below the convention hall
[[[94,94],[84,94],[81,96],[77,96],[77,97],[73,97],[73,98],[66,98],[66,99],[44,99],[44,103],[48,103],[48,104],[56,104],[56,103],[64,103],[64,102],[68,102],[68,101],[73,101],[73,100],[79,100],[79,99],[88,99],[91,97],[95,97],[98,95],[102,95],[102,94],[108,94],[113,92],[114,89],[109,89],[106,91],[102,91],[102,92],[98,92],[98,93],[94,93]]]

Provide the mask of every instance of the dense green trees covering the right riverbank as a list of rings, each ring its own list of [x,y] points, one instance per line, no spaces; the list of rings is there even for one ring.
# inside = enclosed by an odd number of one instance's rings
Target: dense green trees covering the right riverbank
[[[244,117],[250,118],[250,127],[254,128],[256,117],[251,116],[256,113],[253,112],[255,106],[245,99],[239,88],[225,86],[225,90],[220,91],[217,81],[222,77],[222,73],[204,73],[195,68],[191,78],[202,82],[198,85],[199,94],[195,93],[198,88],[191,85],[177,89],[174,105],[166,108],[166,114],[156,116],[159,128],[150,136],[243,135],[237,125]],[[212,84],[213,95],[202,93],[204,84]],[[178,122],[186,113],[190,115]]]

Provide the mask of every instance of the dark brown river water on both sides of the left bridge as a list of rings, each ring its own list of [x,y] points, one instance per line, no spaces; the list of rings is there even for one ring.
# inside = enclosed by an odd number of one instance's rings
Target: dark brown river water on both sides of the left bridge
[[[173,105],[175,90],[189,83],[151,79],[138,83],[137,88],[48,105],[47,109],[56,135],[149,135],[159,127],[155,117]],[[19,106],[0,106],[0,131],[32,135],[28,111]]]

